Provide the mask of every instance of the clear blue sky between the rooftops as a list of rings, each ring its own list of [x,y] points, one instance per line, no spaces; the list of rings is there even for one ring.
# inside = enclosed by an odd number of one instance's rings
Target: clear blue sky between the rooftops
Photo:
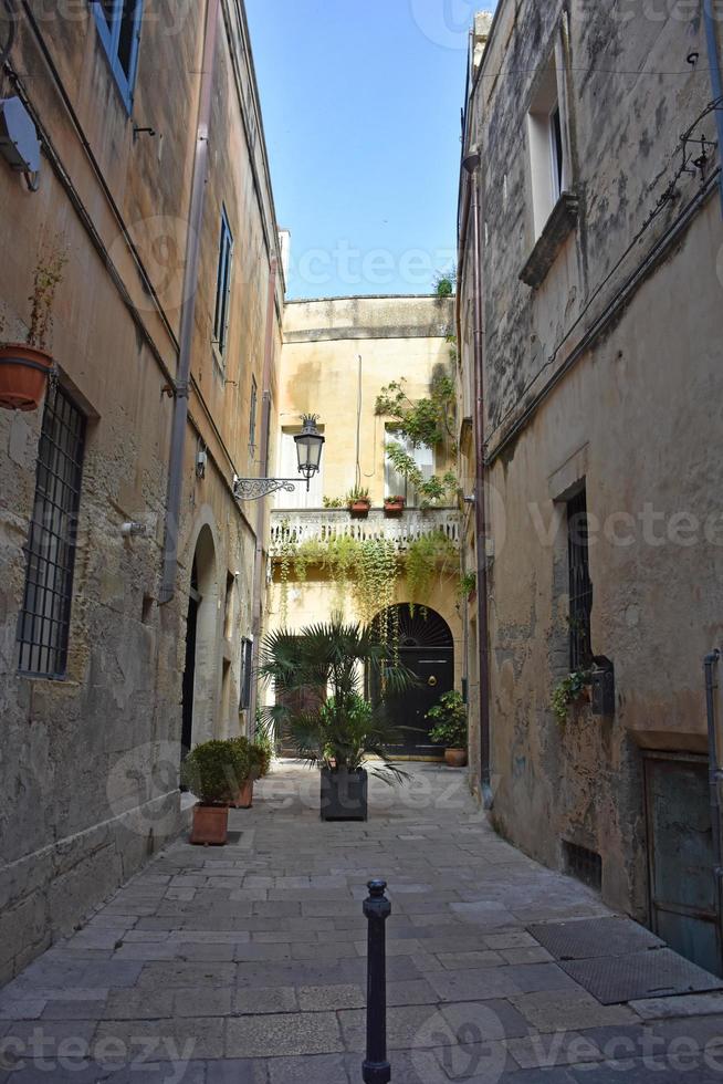
[[[468,0],[247,0],[290,298],[453,263]],[[491,7],[491,4],[486,4]]]

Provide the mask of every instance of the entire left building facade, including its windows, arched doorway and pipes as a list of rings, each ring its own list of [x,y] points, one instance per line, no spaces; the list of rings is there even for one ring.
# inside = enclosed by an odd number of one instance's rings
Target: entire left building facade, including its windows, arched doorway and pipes
[[[0,97],[42,159],[0,158],[3,343],[65,262],[56,383],[0,410],[0,981],[178,831],[181,743],[248,722],[266,523],[233,479],[283,310],[242,4],[12,7]]]

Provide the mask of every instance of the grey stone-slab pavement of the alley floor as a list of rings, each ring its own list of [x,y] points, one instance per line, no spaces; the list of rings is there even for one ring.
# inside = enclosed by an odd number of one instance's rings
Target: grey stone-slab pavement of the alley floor
[[[389,882],[392,1084],[723,1084],[720,994],[602,1005],[527,931],[609,914],[495,836],[463,772],[322,824],[282,762],[226,848],[185,841],[0,992],[0,1081],[356,1084],[366,882]],[[604,951],[604,949],[602,949]]]

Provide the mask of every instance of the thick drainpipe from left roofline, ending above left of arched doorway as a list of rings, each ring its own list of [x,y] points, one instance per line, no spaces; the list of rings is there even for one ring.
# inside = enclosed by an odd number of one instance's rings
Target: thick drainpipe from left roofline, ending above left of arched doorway
[[[184,489],[184,455],[186,450],[186,427],[188,423],[188,395],[191,375],[191,350],[196,320],[196,295],[198,292],[198,270],[200,262],[201,227],[206,201],[208,175],[208,140],[211,124],[213,75],[216,66],[216,43],[221,0],[208,0],[206,8],[206,32],[201,90],[198,106],[198,127],[196,137],[196,158],[193,161],[193,183],[188,215],[188,239],[186,242],[186,268],[184,270],[184,301],[181,309],[181,331],[178,353],[178,372],[175,383],[174,420],[170,436],[170,462],[168,466],[168,489],[166,494],[166,539],[164,545],[164,567],[159,604],[165,606],[176,594],[178,570],[178,529]]]

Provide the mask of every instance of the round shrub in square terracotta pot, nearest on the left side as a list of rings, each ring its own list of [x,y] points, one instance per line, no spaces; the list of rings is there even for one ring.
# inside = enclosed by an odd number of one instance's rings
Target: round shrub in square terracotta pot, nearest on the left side
[[[198,799],[190,842],[222,847],[229,827],[229,805],[235,800],[244,763],[233,741],[205,741],[184,761],[181,778]]]

